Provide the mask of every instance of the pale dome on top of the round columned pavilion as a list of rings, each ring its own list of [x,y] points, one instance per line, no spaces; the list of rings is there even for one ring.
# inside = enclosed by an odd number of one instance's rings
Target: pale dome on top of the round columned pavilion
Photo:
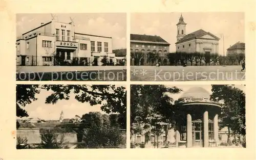
[[[209,98],[210,93],[202,87],[192,87],[179,98]]]

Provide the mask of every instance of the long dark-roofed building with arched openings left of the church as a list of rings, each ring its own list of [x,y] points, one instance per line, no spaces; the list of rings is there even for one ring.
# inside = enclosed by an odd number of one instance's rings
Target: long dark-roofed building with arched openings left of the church
[[[167,65],[169,52],[169,43],[165,41],[160,36],[151,35],[130,35],[131,52],[142,52],[144,55],[139,62],[135,62],[131,59],[132,65],[150,65],[150,60],[148,58],[148,53],[152,52],[159,55],[160,64]]]

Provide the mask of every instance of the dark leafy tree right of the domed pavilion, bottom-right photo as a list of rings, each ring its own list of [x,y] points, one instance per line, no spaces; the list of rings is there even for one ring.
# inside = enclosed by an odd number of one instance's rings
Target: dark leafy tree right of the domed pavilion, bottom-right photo
[[[211,91],[212,100],[223,101],[220,125],[228,127],[228,142],[230,131],[245,139],[245,93],[233,85],[212,85]]]

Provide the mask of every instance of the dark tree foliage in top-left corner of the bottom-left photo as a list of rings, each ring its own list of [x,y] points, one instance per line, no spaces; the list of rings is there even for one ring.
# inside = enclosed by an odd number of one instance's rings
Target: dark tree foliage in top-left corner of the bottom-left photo
[[[32,101],[37,100],[35,94],[40,93],[38,85],[16,85],[16,116],[28,117],[23,108]]]

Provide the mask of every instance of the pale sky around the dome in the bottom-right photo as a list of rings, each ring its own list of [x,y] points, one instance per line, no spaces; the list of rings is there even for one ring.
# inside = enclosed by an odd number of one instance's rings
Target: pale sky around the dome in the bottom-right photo
[[[189,90],[192,87],[202,87],[206,91],[209,92],[209,95],[212,93],[211,92],[211,85],[167,85],[166,87],[174,87],[174,86],[182,89],[182,91],[178,94],[171,94],[171,95],[169,94],[169,96],[172,97],[174,99],[174,101],[178,100],[182,96],[182,94],[184,94],[187,90]],[[245,93],[245,86],[244,85],[234,85],[234,87],[241,89]]]

